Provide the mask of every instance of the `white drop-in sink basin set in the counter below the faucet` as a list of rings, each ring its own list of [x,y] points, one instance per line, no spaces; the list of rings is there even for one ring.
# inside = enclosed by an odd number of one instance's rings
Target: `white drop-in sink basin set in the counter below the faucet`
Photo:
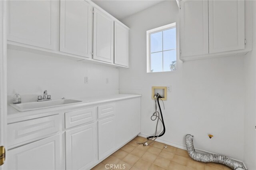
[[[41,102],[28,102],[28,103],[19,103],[19,104],[10,104],[14,109],[23,112],[31,111],[36,109],[45,109],[49,107],[57,107],[63,105],[70,105],[72,103],[82,102],[80,100],[73,99],[61,99],[61,100],[52,100],[52,101],[41,101]],[[88,102],[88,101],[85,101]]]

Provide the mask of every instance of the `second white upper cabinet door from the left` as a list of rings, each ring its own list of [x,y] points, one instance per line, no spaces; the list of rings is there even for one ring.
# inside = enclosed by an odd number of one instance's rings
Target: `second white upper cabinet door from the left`
[[[84,0],[60,1],[60,51],[91,58],[92,10]]]

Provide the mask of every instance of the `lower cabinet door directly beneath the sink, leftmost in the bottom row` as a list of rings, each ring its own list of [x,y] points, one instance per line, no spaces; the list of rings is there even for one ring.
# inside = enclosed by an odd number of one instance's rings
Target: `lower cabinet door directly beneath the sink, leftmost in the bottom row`
[[[9,170],[61,169],[60,135],[8,150]]]

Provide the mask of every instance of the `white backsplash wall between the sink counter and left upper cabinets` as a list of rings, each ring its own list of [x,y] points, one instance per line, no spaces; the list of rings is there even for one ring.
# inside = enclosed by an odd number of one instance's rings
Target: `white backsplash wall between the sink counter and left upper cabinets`
[[[27,97],[47,90],[52,99],[61,99],[118,93],[116,68],[11,49],[7,55],[8,95]],[[88,84],[84,77],[89,77]]]

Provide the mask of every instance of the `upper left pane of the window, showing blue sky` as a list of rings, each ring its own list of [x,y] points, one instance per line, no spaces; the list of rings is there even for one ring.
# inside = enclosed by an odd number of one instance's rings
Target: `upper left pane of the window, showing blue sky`
[[[150,52],[162,51],[162,32],[150,34]]]

